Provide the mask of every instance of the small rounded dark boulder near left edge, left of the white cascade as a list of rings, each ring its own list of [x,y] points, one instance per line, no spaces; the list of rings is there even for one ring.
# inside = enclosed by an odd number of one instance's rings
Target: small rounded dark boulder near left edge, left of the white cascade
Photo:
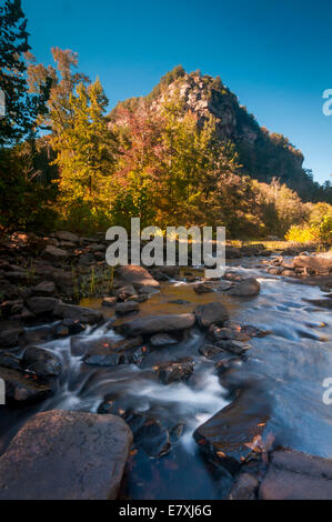
[[[22,367],[41,379],[59,377],[62,372],[61,360],[40,347],[28,347],[23,353]]]

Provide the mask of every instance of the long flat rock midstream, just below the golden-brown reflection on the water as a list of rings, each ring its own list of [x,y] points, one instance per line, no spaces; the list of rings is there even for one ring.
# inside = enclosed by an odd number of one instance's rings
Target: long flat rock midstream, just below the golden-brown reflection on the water
[[[151,315],[138,318],[117,325],[115,330],[124,335],[152,335],[159,332],[177,332],[192,328],[195,323],[193,313]]]

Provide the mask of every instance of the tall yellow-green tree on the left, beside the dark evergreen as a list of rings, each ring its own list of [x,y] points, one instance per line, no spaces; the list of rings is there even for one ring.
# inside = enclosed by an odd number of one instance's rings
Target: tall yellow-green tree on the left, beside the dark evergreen
[[[115,140],[104,117],[107,106],[99,80],[89,87],[80,83],[69,97],[66,126],[57,120],[50,138],[62,217],[77,230],[107,225],[110,215]]]

